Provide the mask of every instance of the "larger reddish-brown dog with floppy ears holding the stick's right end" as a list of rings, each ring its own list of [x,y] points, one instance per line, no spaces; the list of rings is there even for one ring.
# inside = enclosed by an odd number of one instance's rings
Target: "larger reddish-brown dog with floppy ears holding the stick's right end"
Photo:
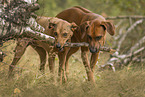
[[[75,22],[79,29],[74,32],[71,42],[87,42],[89,47],[81,47],[81,57],[86,69],[89,81],[94,80],[95,65],[99,56],[99,48],[105,43],[106,32],[110,35],[115,34],[115,27],[112,23],[107,22],[101,15],[92,13],[91,11],[75,6],[60,12],[56,17],[68,22]],[[79,48],[70,48],[66,57],[66,72],[68,72],[68,59],[78,51]],[[88,50],[92,53],[90,63],[88,60]],[[63,55],[64,56],[64,55]],[[63,64],[64,65],[64,64]]]

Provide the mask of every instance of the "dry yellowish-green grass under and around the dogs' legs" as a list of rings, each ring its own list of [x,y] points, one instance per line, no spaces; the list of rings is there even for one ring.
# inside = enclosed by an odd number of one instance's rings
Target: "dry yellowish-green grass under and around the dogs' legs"
[[[10,44],[10,45],[9,45]],[[58,59],[56,58],[55,76],[46,66],[45,75],[39,69],[39,57],[31,47],[27,48],[23,58],[15,69],[14,79],[7,78],[8,65],[12,61],[15,43],[10,41],[2,48],[7,52],[4,63],[0,64],[0,97],[145,97],[144,63],[132,63],[131,66],[112,72],[95,71],[95,84],[86,80],[86,73],[81,62],[80,52],[70,58],[68,82],[60,85],[57,80]],[[105,56],[105,57],[104,57]],[[108,56],[108,55],[107,55]],[[78,58],[78,59],[76,59]],[[99,63],[107,60],[102,53]],[[55,80],[52,80],[54,76]]]

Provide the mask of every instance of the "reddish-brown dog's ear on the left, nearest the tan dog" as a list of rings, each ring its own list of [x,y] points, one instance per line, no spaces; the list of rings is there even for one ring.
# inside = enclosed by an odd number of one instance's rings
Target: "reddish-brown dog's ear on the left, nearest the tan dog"
[[[86,31],[89,29],[90,27],[90,21],[86,21],[84,22],[83,24],[80,25],[80,29],[81,29],[81,32],[82,32],[82,37],[81,39],[83,39],[86,35]]]

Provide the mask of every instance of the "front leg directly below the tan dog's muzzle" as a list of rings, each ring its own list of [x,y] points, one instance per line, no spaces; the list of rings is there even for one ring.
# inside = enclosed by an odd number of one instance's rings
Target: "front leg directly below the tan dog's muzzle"
[[[59,81],[62,84],[62,81],[66,82],[67,77],[65,74],[65,62],[66,62],[66,56],[67,56],[68,50],[65,50],[63,52],[58,53],[59,57],[59,72],[58,75],[60,77]]]

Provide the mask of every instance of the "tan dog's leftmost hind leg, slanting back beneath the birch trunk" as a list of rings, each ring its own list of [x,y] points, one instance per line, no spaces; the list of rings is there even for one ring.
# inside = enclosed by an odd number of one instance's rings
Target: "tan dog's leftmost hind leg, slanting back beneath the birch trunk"
[[[26,41],[25,39],[18,39],[16,48],[15,48],[14,58],[13,58],[11,65],[9,66],[9,74],[8,74],[9,78],[13,76],[12,72],[15,68],[15,65],[17,64],[17,62],[20,60],[20,58],[24,54],[28,45],[29,45],[29,41]]]

